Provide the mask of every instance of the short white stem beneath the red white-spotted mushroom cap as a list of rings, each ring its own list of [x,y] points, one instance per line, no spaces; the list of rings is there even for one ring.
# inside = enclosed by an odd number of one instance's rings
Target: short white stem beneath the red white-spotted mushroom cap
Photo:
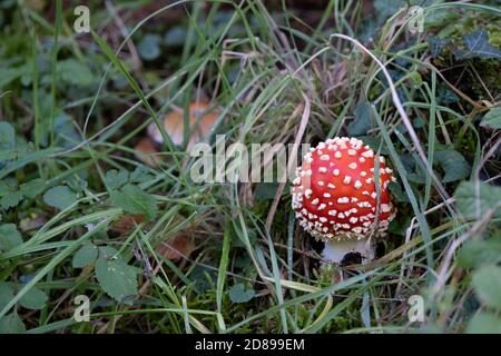
[[[324,260],[341,266],[367,264],[374,259],[374,244],[370,238],[331,240],[325,243],[322,256]]]

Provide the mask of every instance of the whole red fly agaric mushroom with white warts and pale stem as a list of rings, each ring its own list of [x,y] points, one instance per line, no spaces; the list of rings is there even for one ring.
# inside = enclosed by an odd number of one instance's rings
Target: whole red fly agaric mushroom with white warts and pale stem
[[[318,144],[296,169],[292,207],[304,230],[325,243],[325,260],[346,265],[374,258],[369,237],[383,236],[395,216],[387,189],[395,178],[384,158],[379,160],[379,192],[374,151],[356,138]]]

